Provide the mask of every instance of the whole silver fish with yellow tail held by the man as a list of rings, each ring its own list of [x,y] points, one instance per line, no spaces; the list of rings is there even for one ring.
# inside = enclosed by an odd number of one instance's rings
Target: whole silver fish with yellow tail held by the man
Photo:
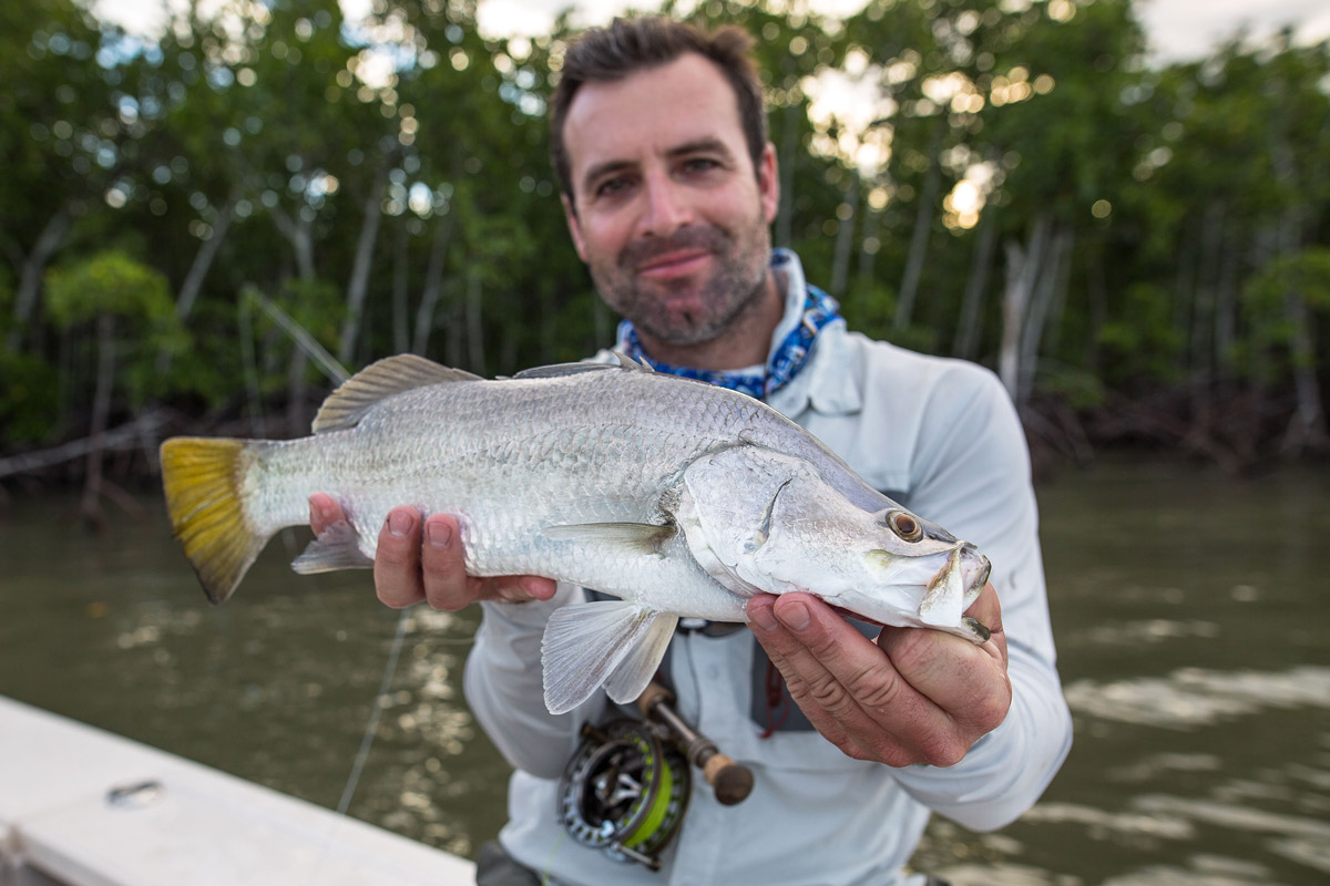
[[[372,566],[395,506],[454,514],[468,574],[617,598],[549,616],[552,713],[600,687],[634,700],[681,618],[747,622],[757,594],[806,591],[866,622],[988,639],[964,616],[990,573],[975,545],[766,404],[617,357],[481,379],[399,355],[336,388],[309,437],[172,437],[172,531],[221,603],[278,530],[307,523],[315,491],[347,519],[295,558],[301,574]]]

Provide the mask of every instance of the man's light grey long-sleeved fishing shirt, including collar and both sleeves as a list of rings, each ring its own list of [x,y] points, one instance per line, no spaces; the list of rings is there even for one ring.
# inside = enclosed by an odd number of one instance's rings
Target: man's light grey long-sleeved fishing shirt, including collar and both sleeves
[[[777,258],[787,310],[774,341],[799,321],[805,288],[798,259]],[[818,336],[805,369],[769,402],[870,485],[988,555],[1007,634],[1011,711],[955,766],[898,769],[853,760],[817,732],[762,737],[753,719],[751,679],[761,650],[750,631],[677,635],[669,664],[678,712],[747,765],[755,784],[746,801],[722,806],[706,782],[694,778],[684,826],[665,850],[662,870],[653,873],[581,846],[556,817],[559,776],[583,723],[610,713],[604,693],[561,716],[545,711],[543,701],[545,620],[584,592],[560,586],[548,603],[484,603],[466,693],[485,732],[517,769],[500,841],[551,882],[918,882],[902,867],[932,812],[975,830],[1001,828],[1033,805],[1071,748],[1029,456],[998,379],[970,363],[872,341],[847,332],[838,320]]]

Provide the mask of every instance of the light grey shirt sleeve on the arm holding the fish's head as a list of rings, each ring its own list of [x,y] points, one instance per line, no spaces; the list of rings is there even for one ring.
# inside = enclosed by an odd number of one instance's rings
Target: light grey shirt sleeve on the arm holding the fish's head
[[[1003,724],[955,766],[908,766],[900,785],[975,830],[1011,822],[1071,749],[1039,547],[1029,453],[1005,389],[988,371],[936,361],[910,460],[910,506],[990,558],[1001,603],[1012,704]]]

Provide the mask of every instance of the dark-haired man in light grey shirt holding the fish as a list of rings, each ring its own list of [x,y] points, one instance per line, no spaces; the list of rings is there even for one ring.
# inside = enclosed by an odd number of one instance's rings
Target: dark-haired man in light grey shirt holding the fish
[[[747,45],[733,29],[638,19],[568,49],[552,130],[573,244],[628,319],[621,349],[763,396],[870,484],[979,545],[992,583],[968,615],[992,639],[886,628],[874,640],[807,594],[754,598],[749,630],[676,636],[666,669],[681,713],[749,765],[755,786],[734,808],[694,786],[653,873],[576,843],[556,821],[581,725],[614,713],[600,692],[571,715],[543,704],[544,624],[584,591],[469,578],[452,517],[422,525],[394,510],[379,596],[481,602],[467,697],[517,769],[500,840],[559,883],[920,883],[902,866],[930,812],[999,828],[1039,797],[1071,741],[1011,402],[978,367],[849,333],[798,259],[771,252],[775,153]],[[311,499],[315,530],[339,517],[329,497]],[[765,692],[774,672],[787,696]]]

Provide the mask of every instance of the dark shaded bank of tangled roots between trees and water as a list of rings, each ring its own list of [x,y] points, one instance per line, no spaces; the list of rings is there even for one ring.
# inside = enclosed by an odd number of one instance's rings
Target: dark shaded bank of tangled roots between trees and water
[[[1298,464],[1326,464],[1330,437],[1323,422],[1305,426],[1293,391],[1234,383],[1174,385],[1136,396],[1099,391],[1031,400],[1021,410],[1036,481],[1051,480],[1097,462],[1145,460],[1178,465],[1214,465],[1228,477],[1252,477]],[[0,517],[12,491],[82,489],[82,517],[104,526],[104,505],[133,510],[132,495],[154,490],[157,446],[170,436],[289,438],[309,433],[321,400],[286,406],[267,417],[231,409],[206,416],[153,406],[124,416],[100,438],[70,436],[0,454]],[[96,470],[92,462],[98,461]],[[88,478],[94,489],[89,490]]]

